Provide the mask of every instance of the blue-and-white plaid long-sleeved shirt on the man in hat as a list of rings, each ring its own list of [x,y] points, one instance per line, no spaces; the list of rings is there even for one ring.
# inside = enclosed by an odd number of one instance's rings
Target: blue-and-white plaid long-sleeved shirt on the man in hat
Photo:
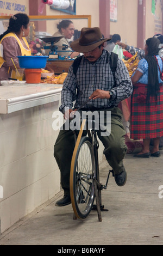
[[[123,61],[118,58],[115,72],[116,87],[114,87],[114,76],[110,69],[110,53],[107,62],[107,52],[104,49],[101,57],[96,63],[90,63],[83,56],[77,74],[73,73],[73,66],[70,66],[68,75],[64,81],[61,92],[60,111],[64,113],[68,108],[78,108],[96,90],[106,90],[112,92],[110,99],[96,99],[87,103],[84,108],[109,108],[117,106],[118,103],[131,95],[133,85],[129,77],[129,72]]]

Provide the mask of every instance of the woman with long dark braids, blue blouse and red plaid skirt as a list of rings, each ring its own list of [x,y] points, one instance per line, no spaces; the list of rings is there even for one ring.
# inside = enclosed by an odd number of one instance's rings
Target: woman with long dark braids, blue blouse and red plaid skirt
[[[141,59],[131,77],[134,90],[131,99],[131,138],[143,139],[143,150],[134,156],[159,157],[159,142],[163,136],[163,60],[159,56],[160,41],[146,40],[145,58]],[[150,153],[149,144],[153,138]]]

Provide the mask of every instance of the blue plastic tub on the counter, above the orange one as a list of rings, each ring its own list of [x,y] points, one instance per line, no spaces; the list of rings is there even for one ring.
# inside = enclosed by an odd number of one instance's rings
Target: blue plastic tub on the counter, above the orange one
[[[48,56],[17,56],[21,69],[44,69]]]

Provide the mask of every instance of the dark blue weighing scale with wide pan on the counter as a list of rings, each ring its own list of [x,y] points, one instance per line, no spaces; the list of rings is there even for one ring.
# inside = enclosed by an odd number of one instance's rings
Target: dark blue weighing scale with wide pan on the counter
[[[71,59],[68,56],[64,56],[64,52],[71,52],[71,51],[66,51],[68,48],[68,45],[62,45],[62,51],[58,51],[58,46],[54,45],[56,42],[58,42],[61,38],[64,36],[50,36],[50,35],[35,35],[36,38],[39,38],[40,40],[46,42],[47,44],[51,44],[51,46],[43,46],[44,49],[50,49],[49,51],[49,59],[51,60],[74,60]],[[63,52],[62,56],[58,55],[58,52]],[[73,52],[73,51],[72,51]]]

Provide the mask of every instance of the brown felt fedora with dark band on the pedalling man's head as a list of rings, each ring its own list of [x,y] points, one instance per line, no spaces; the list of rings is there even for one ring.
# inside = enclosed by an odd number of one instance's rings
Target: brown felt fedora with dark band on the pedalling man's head
[[[90,52],[103,42],[109,40],[110,39],[108,38],[103,38],[103,35],[98,27],[82,28],[80,38],[71,43],[71,48],[76,52]]]

